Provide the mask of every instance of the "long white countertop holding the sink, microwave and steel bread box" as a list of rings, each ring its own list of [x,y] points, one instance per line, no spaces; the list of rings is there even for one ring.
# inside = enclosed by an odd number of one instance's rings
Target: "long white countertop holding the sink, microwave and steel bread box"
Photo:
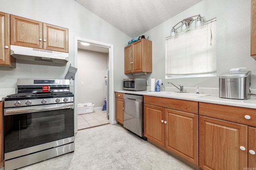
[[[148,91],[128,91],[128,90],[115,90],[115,92],[127,93],[127,94],[138,94],[138,95],[146,95],[146,96],[157,96],[164,98],[174,98],[174,99],[182,99],[182,100],[192,100],[196,102],[206,102],[212,104],[222,104],[228,106],[238,106],[238,107],[247,107],[256,109],[256,96],[251,95],[251,97],[247,100],[238,100],[238,99],[225,99],[219,98],[218,95],[210,95],[210,96],[202,96],[202,97],[188,97],[188,96],[176,96],[171,94],[158,94],[157,92],[152,93]]]

